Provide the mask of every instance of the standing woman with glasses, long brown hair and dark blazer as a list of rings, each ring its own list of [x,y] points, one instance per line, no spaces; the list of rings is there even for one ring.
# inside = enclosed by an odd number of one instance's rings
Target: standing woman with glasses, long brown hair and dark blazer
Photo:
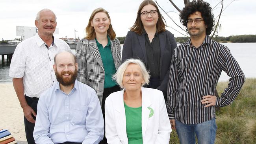
[[[122,61],[141,59],[150,71],[150,82],[145,87],[161,90],[167,101],[169,68],[176,40],[165,30],[164,18],[152,0],[139,6],[134,25],[128,31],[122,50]]]

